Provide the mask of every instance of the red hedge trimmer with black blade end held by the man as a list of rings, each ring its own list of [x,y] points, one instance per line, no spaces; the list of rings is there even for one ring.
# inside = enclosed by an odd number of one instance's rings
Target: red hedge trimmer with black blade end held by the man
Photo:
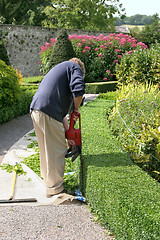
[[[73,120],[74,116],[78,116],[79,119],[79,128],[75,129]],[[77,120],[78,120],[77,119]],[[70,126],[69,129],[65,132],[66,139],[73,140],[75,142],[75,147],[72,146],[67,150],[65,157],[72,157],[72,162],[81,154],[82,142],[81,142],[81,117],[80,113],[72,113],[70,115]],[[73,148],[73,149],[72,149]]]

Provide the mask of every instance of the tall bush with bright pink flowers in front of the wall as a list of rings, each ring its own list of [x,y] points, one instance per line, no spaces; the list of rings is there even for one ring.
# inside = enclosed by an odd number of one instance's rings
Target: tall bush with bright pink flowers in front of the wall
[[[137,46],[147,48],[141,42],[131,36],[125,34],[110,34],[104,36],[88,35],[70,35],[76,56],[84,62],[86,68],[85,81],[88,82],[104,82],[114,81],[115,66],[120,62],[120,58],[125,52],[134,50]],[[45,43],[41,47],[42,69],[46,69],[49,62],[49,56],[54,49],[56,39],[50,39],[51,43]]]

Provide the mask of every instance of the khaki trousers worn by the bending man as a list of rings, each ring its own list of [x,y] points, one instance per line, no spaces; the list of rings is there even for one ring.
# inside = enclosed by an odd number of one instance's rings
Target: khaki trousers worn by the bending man
[[[67,150],[63,124],[37,110],[32,111],[31,117],[40,150],[40,168],[46,194],[58,194],[64,189]]]

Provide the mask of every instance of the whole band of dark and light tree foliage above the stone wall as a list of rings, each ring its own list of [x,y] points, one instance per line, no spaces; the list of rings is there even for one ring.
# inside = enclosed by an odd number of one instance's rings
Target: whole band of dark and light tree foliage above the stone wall
[[[0,23],[111,30],[123,17],[119,0],[0,0]]]

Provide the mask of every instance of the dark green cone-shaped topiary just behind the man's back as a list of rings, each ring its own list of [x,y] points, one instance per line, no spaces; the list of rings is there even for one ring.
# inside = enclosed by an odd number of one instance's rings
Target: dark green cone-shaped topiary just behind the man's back
[[[48,63],[48,71],[58,63],[67,61],[73,57],[76,57],[71,41],[68,39],[68,35],[65,29],[62,29],[55,42],[53,52],[50,56]]]

